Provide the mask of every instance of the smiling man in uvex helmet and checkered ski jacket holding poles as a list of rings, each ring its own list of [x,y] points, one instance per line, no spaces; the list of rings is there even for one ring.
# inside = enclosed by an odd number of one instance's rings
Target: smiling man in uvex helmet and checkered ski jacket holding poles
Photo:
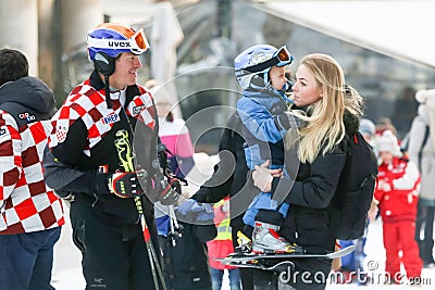
[[[177,193],[162,180],[151,94],[137,85],[148,42],[141,29],[111,23],[90,30],[87,42],[95,71],[51,119],[46,180],[72,201],[86,289],[156,289],[161,282],[152,265],[160,256],[147,252],[150,244],[159,249],[153,202],[170,204]],[[142,232],[144,216],[149,232]]]

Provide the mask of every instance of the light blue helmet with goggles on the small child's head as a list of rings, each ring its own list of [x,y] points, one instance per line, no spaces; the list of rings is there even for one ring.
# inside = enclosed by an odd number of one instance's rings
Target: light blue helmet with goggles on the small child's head
[[[270,83],[271,67],[285,66],[290,64],[293,59],[285,46],[281,49],[270,45],[250,47],[234,60],[237,81],[244,89],[263,89]]]

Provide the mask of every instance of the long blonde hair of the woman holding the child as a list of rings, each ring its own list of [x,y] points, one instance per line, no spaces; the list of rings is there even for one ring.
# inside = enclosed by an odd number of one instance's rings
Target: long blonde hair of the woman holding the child
[[[362,108],[361,97],[355,89],[345,87],[343,68],[331,55],[308,54],[301,60],[302,64],[313,74],[323,92],[323,98],[310,104],[306,112],[293,111],[296,117],[307,122],[299,131],[299,160],[312,163],[322,149],[322,154],[331,152],[344,139],[345,109],[361,116]]]

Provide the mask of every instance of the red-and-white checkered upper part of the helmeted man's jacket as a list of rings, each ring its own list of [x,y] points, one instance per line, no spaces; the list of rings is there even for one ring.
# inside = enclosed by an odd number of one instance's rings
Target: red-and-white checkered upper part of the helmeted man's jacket
[[[156,124],[151,94],[140,86],[139,90],[141,94],[135,96],[125,105],[125,111],[127,115],[134,116],[153,129]],[[121,108],[107,108],[104,90],[97,91],[89,85],[88,79],[73,89],[62,108],[51,118],[53,130],[49,136],[49,148],[62,143],[66,139],[70,126],[82,118],[88,129],[88,146],[84,153],[89,156],[90,149],[110,131],[119,121],[120,113]]]

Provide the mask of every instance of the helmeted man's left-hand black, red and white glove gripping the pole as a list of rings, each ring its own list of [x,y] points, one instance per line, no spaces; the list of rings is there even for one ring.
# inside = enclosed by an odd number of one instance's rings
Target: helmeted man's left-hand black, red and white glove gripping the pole
[[[109,191],[120,198],[139,197],[145,193],[140,182],[146,186],[147,176],[145,169],[132,173],[116,172],[108,178]]]

